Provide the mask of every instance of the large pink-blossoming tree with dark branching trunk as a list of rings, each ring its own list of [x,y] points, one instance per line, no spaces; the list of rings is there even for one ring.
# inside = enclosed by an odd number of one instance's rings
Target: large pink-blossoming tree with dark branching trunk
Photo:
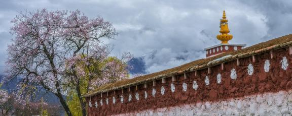
[[[25,90],[41,86],[53,92],[67,115],[72,115],[63,97],[66,95],[63,87],[74,79],[65,76],[65,63],[78,54],[98,53],[95,47],[101,39],[116,35],[112,24],[101,17],[89,19],[78,10],[46,9],[20,12],[12,23],[11,33],[15,38],[8,46],[6,80],[21,76],[19,84],[27,87]],[[31,94],[31,91],[22,92]]]

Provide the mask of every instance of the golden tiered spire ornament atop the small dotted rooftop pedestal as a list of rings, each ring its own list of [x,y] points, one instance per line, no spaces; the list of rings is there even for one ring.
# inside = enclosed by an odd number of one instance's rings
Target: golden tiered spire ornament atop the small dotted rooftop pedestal
[[[228,34],[230,31],[228,29],[228,20],[226,19],[225,11],[223,11],[223,17],[220,20],[220,33],[217,35],[217,39],[221,40],[221,43],[228,44],[228,41],[232,39],[232,35]]]

